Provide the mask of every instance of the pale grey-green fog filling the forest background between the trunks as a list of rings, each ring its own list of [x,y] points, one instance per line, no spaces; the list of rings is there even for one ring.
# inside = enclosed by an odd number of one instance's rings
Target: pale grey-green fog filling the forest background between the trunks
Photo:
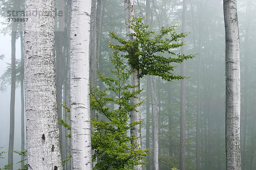
[[[0,0],[0,2],[5,0]],[[56,0],[57,8],[66,12],[67,1]],[[150,29],[159,33],[160,27],[176,25],[176,32],[181,32],[182,26],[182,0],[151,0]],[[65,3],[65,8],[60,4]],[[114,32],[122,38],[126,37],[124,2],[122,0],[103,0],[103,17],[100,41],[99,71],[110,75],[113,65],[108,60],[108,52],[111,51],[106,44],[114,40],[108,31]],[[8,3],[0,3],[0,55],[5,58],[0,60],[0,76],[4,74],[7,64],[11,63],[11,30],[4,35],[7,21]],[[23,5],[22,5],[23,6]],[[23,8],[23,7],[22,7]],[[145,17],[145,0],[134,2],[135,15]],[[241,62],[241,164],[242,170],[253,170],[256,167],[255,142],[256,142],[256,2],[252,0],[237,0],[240,36],[240,62]],[[57,17],[58,20],[61,17]],[[56,33],[66,31],[66,23],[62,26],[56,21]],[[66,22],[66,20],[65,20]],[[199,130],[199,168],[200,170],[226,170],[225,155],[225,27],[222,0],[188,0],[187,8],[186,51],[185,54],[195,55],[186,60],[186,169],[196,170],[196,131]],[[67,37],[63,37],[66,41]],[[59,40],[56,38],[58,48]],[[63,49],[65,48],[63,45]],[[56,49],[56,53],[60,49]],[[62,46],[61,46],[62,51]],[[180,52],[180,48],[174,49]],[[66,54],[62,54],[66,63]],[[163,54],[169,57],[168,54]],[[20,36],[16,40],[16,59],[20,59]],[[180,75],[180,64],[173,73]],[[63,66],[63,76],[65,72]],[[65,79],[65,77],[64,77]],[[97,80],[100,87],[99,79]],[[159,127],[159,169],[170,170],[179,168],[180,154],[180,81],[168,82],[156,77],[156,96]],[[0,79],[0,83],[2,80]],[[199,83],[198,83],[199,82]],[[65,80],[62,82],[63,93]],[[10,94],[11,85],[6,84],[6,91],[0,92],[0,149],[8,152],[9,146],[9,121],[10,121]],[[146,148],[146,97],[147,76],[140,79],[141,100],[140,106],[142,131],[142,147]],[[62,95],[62,97],[64,94]],[[198,98],[199,97],[199,98]],[[150,101],[150,125],[149,141],[152,149],[152,108]],[[14,150],[21,149],[21,98],[20,85],[15,91],[15,136]],[[66,103],[64,103],[66,104]],[[64,113],[63,113],[64,114]],[[199,115],[199,117],[197,117]],[[64,119],[64,116],[63,116]],[[102,118],[104,119],[104,118]],[[197,122],[198,129],[196,128]],[[25,126],[26,127],[26,126]],[[64,132],[63,132],[64,133]],[[26,128],[25,128],[26,141]],[[26,148],[26,145],[25,145]],[[151,151],[152,153],[152,151]],[[0,159],[0,168],[8,164],[8,155],[4,153]],[[152,168],[152,155],[148,164]],[[20,161],[20,156],[14,153],[14,164]],[[20,164],[14,165],[14,170],[20,168]],[[143,167],[146,170],[146,167]],[[148,169],[147,169],[148,170]],[[150,169],[151,170],[151,169]]]

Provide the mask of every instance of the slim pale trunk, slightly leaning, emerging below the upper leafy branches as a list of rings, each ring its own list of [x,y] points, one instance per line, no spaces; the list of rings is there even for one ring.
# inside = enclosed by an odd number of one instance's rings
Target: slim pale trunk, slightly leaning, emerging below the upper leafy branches
[[[157,95],[156,95],[156,79],[150,76],[150,89],[152,99],[152,123],[153,123],[153,170],[159,170],[158,164],[158,112],[157,112]]]

